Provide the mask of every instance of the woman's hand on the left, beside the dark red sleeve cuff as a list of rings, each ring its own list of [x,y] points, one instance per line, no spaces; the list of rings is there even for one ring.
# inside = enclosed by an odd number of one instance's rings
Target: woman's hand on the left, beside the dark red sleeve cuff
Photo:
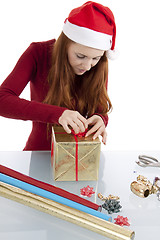
[[[65,110],[58,120],[67,133],[71,133],[71,126],[76,134],[85,131],[86,121],[79,112],[73,110]]]

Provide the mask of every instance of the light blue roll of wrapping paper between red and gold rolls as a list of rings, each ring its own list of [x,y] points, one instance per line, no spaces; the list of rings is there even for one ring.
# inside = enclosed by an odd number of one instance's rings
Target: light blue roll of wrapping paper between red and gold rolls
[[[7,176],[5,174],[2,174],[2,173],[0,173],[0,181],[5,182],[5,183],[10,184],[10,185],[13,185],[13,186],[18,187],[18,188],[21,188],[21,189],[26,190],[28,192],[34,193],[34,194],[39,195],[41,197],[48,198],[48,199],[53,200],[55,202],[62,203],[64,205],[75,208],[77,210],[89,213],[93,216],[102,218],[104,220],[109,221],[111,219],[111,217],[108,216],[107,214],[98,212],[98,211],[96,211],[92,208],[88,208],[88,207],[86,207],[82,204],[79,204],[77,202],[73,202],[73,201],[71,201],[67,198],[61,197],[59,195],[56,195],[56,194],[48,192],[44,189],[35,187],[35,186],[33,186],[31,184],[28,184],[26,182],[22,182],[18,179],[9,177],[9,176]]]

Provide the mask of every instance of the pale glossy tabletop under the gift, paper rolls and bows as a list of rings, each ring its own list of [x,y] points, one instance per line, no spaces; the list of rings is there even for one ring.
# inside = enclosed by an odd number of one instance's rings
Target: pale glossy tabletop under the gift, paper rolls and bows
[[[160,239],[160,201],[156,194],[140,198],[130,190],[130,184],[139,174],[153,182],[160,177],[160,168],[142,168],[135,161],[145,154],[160,160],[160,151],[102,151],[99,180],[82,182],[55,182],[50,166],[50,152],[0,152],[0,164],[51,183],[80,195],[80,189],[91,186],[95,194],[89,200],[102,204],[97,194],[120,197],[121,212],[112,214],[127,217],[135,231],[136,240]],[[104,210],[105,211],[105,210]],[[107,214],[107,212],[106,212]],[[0,240],[107,240],[108,238],[63,221],[12,200],[0,197]]]

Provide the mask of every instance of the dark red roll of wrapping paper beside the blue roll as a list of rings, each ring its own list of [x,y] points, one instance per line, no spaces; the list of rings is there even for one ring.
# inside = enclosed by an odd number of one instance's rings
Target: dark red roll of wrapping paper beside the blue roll
[[[90,208],[93,208],[95,210],[101,210],[101,206],[96,204],[96,203],[93,203],[93,202],[91,202],[87,199],[83,199],[83,198],[79,197],[78,195],[75,195],[73,193],[70,193],[68,191],[63,190],[62,188],[58,188],[58,187],[55,187],[51,184],[39,181],[39,180],[34,179],[34,178],[31,178],[31,177],[29,177],[25,174],[17,172],[17,171],[15,171],[13,169],[10,169],[8,167],[0,165],[0,173],[3,173],[3,174],[8,175],[10,177],[16,178],[20,181],[32,184],[36,187],[42,188],[46,191],[52,192],[52,193],[57,194],[61,197],[65,197],[65,198],[70,199],[74,202],[80,203],[80,204],[82,204],[86,207],[90,207]]]

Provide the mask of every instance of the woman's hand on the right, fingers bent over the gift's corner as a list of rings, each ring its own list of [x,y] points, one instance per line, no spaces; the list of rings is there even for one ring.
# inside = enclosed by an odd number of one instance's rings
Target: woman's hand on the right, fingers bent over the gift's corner
[[[93,127],[87,132],[86,137],[88,137],[92,133],[95,133],[93,135],[93,139],[96,139],[99,135],[101,135],[102,142],[106,145],[107,132],[102,118],[98,115],[93,115],[92,117],[87,119],[86,128],[88,127],[88,125],[93,125]]]

